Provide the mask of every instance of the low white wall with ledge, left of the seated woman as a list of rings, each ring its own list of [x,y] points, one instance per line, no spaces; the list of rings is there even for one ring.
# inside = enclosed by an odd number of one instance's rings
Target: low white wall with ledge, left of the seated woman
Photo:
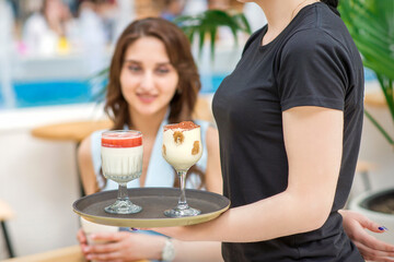
[[[97,119],[94,105],[0,111],[0,199],[15,211],[8,222],[16,255],[77,245],[80,198],[76,143],[32,136],[35,127]],[[0,238],[0,260],[5,258]]]

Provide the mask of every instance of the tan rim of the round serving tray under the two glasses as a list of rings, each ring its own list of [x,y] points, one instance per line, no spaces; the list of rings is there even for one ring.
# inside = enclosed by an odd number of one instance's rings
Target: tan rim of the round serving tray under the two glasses
[[[165,188],[165,187],[128,188],[128,190],[129,189],[131,189],[131,190],[138,189],[141,191],[143,191],[146,189],[147,190],[152,190],[152,189],[153,190],[178,190],[177,188]],[[97,192],[94,194],[95,195],[105,194],[105,193],[109,193],[111,191],[117,191],[117,190],[101,191],[101,192]],[[197,215],[197,216],[188,216],[188,217],[179,217],[179,218],[174,218],[174,217],[169,217],[169,218],[105,217],[105,216],[95,216],[95,215],[86,214],[77,209],[77,203],[79,203],[88,198],[92,198],[93,194],[85,195],[85,196],[82,196],[82,198],[76,200],[72,204],[72,209],[73,209],[74,213],[82,216],[86,221],[97,223],[97,224],[103,224],[103,225],[108,225],[108,226],[119,226],[119,227],[189,226],[189,225],[200,224],[200,223],[205,223],[205,222],[215,219],[219,215],[221,215],[222,213],[224,213],[227,210],[230,209],[231,201],[222,194],[210,192],[210,191],[205,191],[205,190],[199,190],[199,189],[186,189],[186,191],[198,191],[198,192],[206,193],[206,194],[212,194],[212,195],[216,195],[218,198],[225,200],[228,203],[227,203],[227,206],[224,206],[223,209],[220,209],[218,211],[215,211],[215,212],[209,212],[209,213],[205,213],[205,214]]]

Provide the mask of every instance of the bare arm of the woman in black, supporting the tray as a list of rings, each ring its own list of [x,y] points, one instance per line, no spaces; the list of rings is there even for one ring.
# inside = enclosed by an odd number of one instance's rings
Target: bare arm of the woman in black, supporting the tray
[[[283,192],[231,209],[205,224],[158,231],[184,240],[251,242],[320,228],[331,212],[339,175],[343,111],[296,107],[282,117],[289,162]]]

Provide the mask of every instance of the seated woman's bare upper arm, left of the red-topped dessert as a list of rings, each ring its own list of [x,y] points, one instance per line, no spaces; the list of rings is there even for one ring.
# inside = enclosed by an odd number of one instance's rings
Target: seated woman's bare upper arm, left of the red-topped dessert
[[[90,136],[84,139],[78,148],[78,166],[85,193],[92,194],[99,192],[100,188],[92,163]]]

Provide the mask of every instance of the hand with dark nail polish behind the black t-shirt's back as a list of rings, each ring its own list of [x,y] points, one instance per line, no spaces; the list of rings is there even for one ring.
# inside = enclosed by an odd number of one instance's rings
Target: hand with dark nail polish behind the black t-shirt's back
[[[340,211],[340,214],[344,217],[343,225],[346,234],[355,242],[366,260],[394,262],[394,245],[378,240],[364,230],[384,233],[382,226],[352,211]]]

